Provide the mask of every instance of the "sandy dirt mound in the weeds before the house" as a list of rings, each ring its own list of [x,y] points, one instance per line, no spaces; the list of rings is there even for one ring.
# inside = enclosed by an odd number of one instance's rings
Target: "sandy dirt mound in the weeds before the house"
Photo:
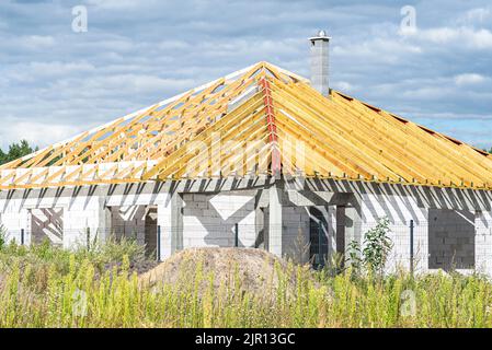
[[[152,270],[140,275],[141,285],[157,283],[194,287],[199,293],[210,288],[238,290],[256,296],[274,295],[282,288],[294,293],[298,283],[312,280],[308,268],[298,268],[263,249],[191,248],[180,252]]]

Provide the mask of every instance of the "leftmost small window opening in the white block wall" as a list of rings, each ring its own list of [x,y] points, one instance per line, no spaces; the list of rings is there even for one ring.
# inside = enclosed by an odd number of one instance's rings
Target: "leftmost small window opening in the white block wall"
[[[31,243],[64,244],[64,209],[42,208],[31,210]]]

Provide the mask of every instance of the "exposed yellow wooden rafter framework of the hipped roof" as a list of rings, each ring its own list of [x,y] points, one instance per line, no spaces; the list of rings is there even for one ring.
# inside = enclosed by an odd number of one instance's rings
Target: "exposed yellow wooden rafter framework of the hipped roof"
[[[0,189],[278,173],[492,189],[487,152],[266,62],[4,164]]]

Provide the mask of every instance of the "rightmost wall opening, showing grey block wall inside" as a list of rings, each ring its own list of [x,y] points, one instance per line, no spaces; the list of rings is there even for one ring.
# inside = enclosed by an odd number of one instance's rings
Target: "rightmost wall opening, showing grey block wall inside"
[[[474,213],[464,210],[428,210],[428,268],[474,268]]]

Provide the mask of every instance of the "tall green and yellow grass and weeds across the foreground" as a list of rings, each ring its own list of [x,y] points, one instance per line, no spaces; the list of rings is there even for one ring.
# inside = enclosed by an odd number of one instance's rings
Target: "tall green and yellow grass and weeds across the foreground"
[[[0,250],[0,327],[490,327],[492,284],[479,276],[306,277],[295,293],[214,290],[201,273],[186,285],[139,287],[142,252],[131,242],[65,252],[42,245]],[[205,291],[199,285],[206,285]],[[410,291],[410,292],[409,292]],[[415,296],[415,312],[404,295]],[[402,299],[403,295],[403,299]]]

